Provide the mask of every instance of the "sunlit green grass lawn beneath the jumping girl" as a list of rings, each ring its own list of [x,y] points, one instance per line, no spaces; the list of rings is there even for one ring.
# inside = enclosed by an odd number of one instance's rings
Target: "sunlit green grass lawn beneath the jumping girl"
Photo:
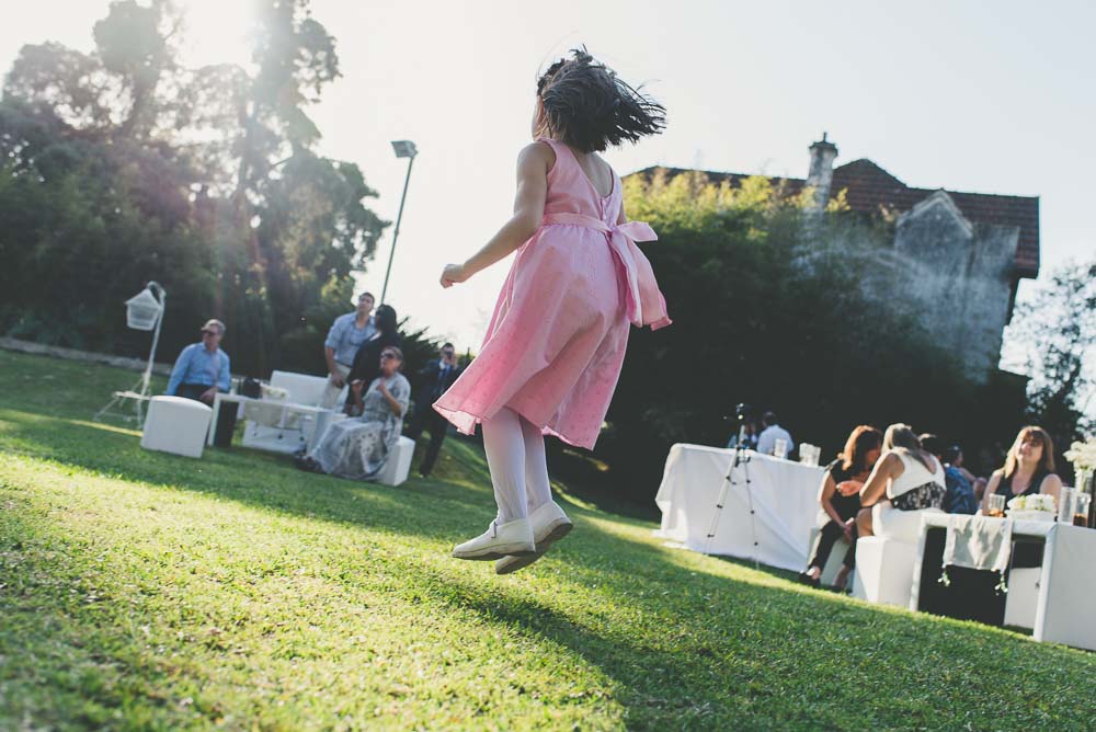
[[[499,577],[471,444],[399,488],[91,421],[134,375],[0,352],[0,729],[1093,729],[1096,654],[575,530]],[[414,474],[412,472],[412,474]]]

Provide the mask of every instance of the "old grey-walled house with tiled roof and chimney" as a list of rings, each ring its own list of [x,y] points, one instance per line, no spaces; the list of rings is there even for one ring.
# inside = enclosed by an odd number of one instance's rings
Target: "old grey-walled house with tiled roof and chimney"
[[[867,159],[834,168],[837,147],[825,135],[810,147],[806,179],[773,179],[789,195],[810,187],[814,209],[844,195],[864,216],[895,219],[893,245],[899,278],[894,297],[909,296],[941,345],[959,354],[971,376],[997,367],[1005,325],[1021,278],[1039,274],[1039,198],[920,188]],[[686,172],[648,168],[651,176]],[[750,175],[703,172],[713,183],[740,185]]]

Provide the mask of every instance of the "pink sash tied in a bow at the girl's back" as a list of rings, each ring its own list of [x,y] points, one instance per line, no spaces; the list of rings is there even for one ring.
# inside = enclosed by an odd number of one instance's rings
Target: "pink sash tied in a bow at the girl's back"
[[[637,328],[650,325],[652,331],[657,331],[673,322],[666,313],[666,299],[654,279],[654,268],[651,267],[647,255],[636,245],[637,241],[657,241],[659,237],[654,233],[654,229],[643,221],[626,221],[610,226],[593,216],[566,211],[545,214],[543,226],[552,224],[582,226],[606,235],[609,249],[613,250],[627,279],[626,308],[628,320],[632,325]]]

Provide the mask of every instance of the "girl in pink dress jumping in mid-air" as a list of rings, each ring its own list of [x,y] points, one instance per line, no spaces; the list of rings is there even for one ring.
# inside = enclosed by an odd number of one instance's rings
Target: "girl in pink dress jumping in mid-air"
[[[514,250],[480,355],[434,404],[457,430],[483,425],[498,515],[458,545],[458,559],[532,564],[571,530],[552,501],[544,435],[592,449],[616,388],[629,323],[670,324],[651,264],[636,241],[620,179],[595,155],[665,127],[665,108],[584,49],[537,81],[533,137],[517,157],[513,217],[442,287],[463,283]]]

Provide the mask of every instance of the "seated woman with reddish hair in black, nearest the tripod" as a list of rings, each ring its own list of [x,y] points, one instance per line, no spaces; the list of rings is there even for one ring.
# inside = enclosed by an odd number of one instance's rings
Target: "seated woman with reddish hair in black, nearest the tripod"
[[[883,433],[861,424],[848,435],[845,449],[837,459],[826,466],[819,503],[829,521],[814,538],[807,571],[799,574],[800,582],[818,586],[833,545],[844,536],[850,546],[845,552],[841,571],[834,577],[833,586],[835,590],[845,588],[848,573],[853,571],[856,561],[856,514],[860,510],[860,488],[879,459],[882,443]]]

